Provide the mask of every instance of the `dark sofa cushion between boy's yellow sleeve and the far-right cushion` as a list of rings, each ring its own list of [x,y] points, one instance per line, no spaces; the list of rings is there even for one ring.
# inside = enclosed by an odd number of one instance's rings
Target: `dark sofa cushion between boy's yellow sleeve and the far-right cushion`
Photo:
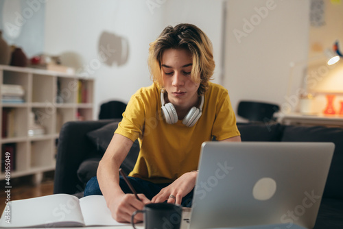
[[[279,123],[237,123],[241,141],[280,141],[282,126]]]

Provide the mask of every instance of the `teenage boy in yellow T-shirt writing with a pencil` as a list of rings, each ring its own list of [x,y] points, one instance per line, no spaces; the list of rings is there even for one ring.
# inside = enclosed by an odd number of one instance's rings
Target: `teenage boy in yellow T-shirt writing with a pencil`
[[[117,221],[128,222],[151,202],[191,206],[204,141],[241,141],[228,91],[209,82],[215,69],[209,38],[195,25],[166,27],[150,44],[153,84],[132,95],[85,195],[104,195]],[[140,152],[128,179],[118,169],[138,138]],[[143,220],[139,214],[136,221]]]

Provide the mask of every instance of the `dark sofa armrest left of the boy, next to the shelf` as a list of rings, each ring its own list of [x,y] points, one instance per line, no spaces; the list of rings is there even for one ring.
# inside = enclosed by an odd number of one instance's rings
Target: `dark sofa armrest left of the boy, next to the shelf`
[[[64,123],[58,138],[54,193],[74,194],[83,191],[83,184],[77,176],[78,167],[93,154],[99,157],[97,149],[86,134],[102,126],[119,122],[121,119],[99,121],[69,121]]]

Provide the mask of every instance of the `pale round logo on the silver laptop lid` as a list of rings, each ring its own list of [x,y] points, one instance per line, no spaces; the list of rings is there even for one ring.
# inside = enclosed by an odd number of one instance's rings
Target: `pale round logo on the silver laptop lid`
[[[252,196],[256,200],[269,200],[276,192],[276,182],[272,178],[261,178],[257,180],[252,189]]]

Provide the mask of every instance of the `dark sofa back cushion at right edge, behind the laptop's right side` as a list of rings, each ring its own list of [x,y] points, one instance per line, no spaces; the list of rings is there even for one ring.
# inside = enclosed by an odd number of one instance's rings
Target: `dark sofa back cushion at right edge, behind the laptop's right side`
[[[343,199],[343,128],[285,126],[281,141],[332,142],[335,151],[323,197]]]

